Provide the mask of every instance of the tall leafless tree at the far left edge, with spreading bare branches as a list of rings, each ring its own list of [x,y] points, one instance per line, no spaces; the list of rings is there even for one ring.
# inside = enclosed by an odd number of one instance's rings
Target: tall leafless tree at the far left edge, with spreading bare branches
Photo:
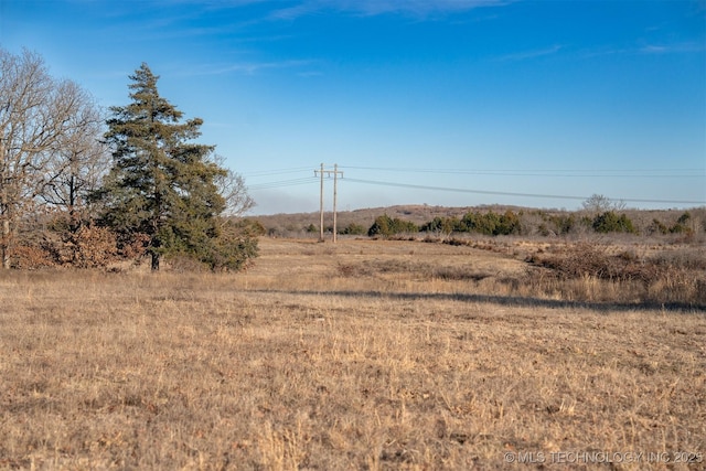
[[[0,49],[0,264],[10,267],[19,222],[56,180],[56,158],[77,126],[85,94],[50,76],[44,61]]]

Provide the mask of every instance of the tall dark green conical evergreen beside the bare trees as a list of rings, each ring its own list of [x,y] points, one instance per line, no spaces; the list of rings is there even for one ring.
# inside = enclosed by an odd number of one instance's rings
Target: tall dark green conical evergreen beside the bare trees
[[[242,244],[229,240],[231,232],[222,237],[225,200],[215,181],[227,171],[210,160],[213,146],[190,142],[203,121],[182,121],[182,111],[159,95],[159,76],[147,64],[129,78],[132,101],[110,108],[107,121],[114,165],[95,194],[104,205],[101,221],[124,239],[147,240],[152,270],[162,256],[176,254],[214,268],[222,258],[214,250]]]

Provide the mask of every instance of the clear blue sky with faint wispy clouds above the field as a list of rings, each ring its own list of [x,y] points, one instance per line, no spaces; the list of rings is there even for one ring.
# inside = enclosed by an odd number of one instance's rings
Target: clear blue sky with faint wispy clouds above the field
[[[255,214],[706,204],[706,1],[0,0],[104,106],[148,63]],[[332,181],[325,181],[331,207]]]

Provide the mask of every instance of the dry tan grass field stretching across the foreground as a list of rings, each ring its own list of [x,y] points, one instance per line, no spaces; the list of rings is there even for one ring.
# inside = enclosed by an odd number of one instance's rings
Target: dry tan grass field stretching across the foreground
[[[706,469],[698,282],[547,278],[524,260],[561,249],[522,242],[260,248],[0,274],[0,469]]]

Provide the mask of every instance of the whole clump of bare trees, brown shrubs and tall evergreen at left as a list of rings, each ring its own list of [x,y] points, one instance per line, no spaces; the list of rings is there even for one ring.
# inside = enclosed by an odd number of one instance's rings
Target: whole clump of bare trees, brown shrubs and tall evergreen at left
[[[195,142],[201,118],[158,90],[147,64],[126,106],[107,116],[42,57],[0,49],[2,268],[105,266],[149,256],[240,269],[257,255],[254,205],[214,146]]]

